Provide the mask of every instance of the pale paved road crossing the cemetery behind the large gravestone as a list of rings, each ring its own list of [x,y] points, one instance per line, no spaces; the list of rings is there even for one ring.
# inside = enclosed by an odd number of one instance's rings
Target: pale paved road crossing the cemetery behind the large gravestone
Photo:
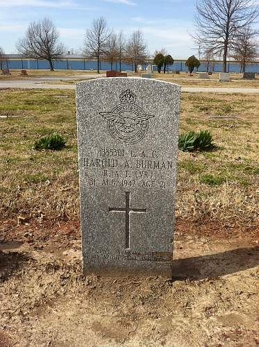
[[[96,78],[96,75],[92,75],[94,78]],[[92,77],[91,76],[91,77]],[[19,88],[19,89],[60,89],[60,90],[74,90],[75,86],[72,85],[62,85],[62,84],[55,84],[55,81],[61,80],[74,80],[78,78],[78,76],[74,77],[42,77],[42,78],[33,78],[33,79],[24,79],[24,80],[12,80],[12,81],[6,81],[0,80],[0,89],[3,88]],[[80,77],[82,78],[82,77]],[[90,78],[90,76],[87,75],[87,78]],[[53,84],[48,84],[49,82],[52,82]],[[46,84],[42,82],[48,82]],[[218,88],[218,87],[182,87],[183,92],[190,92],[190,93],[241,93],[241,94],[259,94],[259,88]]]

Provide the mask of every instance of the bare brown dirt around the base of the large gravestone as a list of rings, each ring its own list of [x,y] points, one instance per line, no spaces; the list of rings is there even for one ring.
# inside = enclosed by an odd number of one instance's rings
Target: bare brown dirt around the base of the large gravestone
[[[1,239],[1,346],[259,343],[253,232],[231,228],[224,237],[217,223],[199,229],[178,222],[173,280],[113,279],[82,276],[77,223],[71,233],[62,224],[52,235],[50,226],[32,230],[31,242],[22,237],[25,227]]]

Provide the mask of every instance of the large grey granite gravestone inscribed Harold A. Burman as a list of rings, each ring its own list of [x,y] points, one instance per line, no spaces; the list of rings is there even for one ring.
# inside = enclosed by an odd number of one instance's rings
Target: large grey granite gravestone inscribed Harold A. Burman
[[[181,87],[76,83],[83,273],[172,277]]]

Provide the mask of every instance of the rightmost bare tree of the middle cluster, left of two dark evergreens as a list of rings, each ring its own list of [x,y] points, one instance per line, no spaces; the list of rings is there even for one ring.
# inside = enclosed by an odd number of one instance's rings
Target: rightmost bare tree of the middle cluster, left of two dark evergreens
[[[132,62],[137,72],[137,65],[142,64],[148,56],[147,44],[145,44],[141,31],[134,31],[128,40],[126,48],[128,61]]]

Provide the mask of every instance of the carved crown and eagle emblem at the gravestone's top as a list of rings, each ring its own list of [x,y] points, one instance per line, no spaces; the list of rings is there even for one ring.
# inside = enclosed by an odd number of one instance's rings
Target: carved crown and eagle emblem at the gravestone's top
[[[108,131],[114,139],[124,144],[140,142],[149,130],[149,119],[140,106],[136,105],[137,96],[131,90],[119,95],[121,103],[110,112],[99,112],[107,121]]]

